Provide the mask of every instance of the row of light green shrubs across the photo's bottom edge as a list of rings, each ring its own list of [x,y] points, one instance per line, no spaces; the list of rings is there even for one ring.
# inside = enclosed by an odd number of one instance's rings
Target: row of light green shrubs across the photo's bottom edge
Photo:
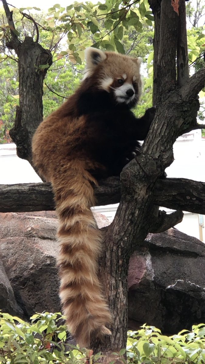
[[[100,354],[93,356],[92,350],[80,350],[66,343],[62,319],[61,313],[44,312],[33,315],[27,323],[1,313],[0,363],[97,363]],[[182,330],[169,337],[153,326],[143,325],[139,331],[128,332],[127,361],[123,357],[125,349],[113,354],[120,356],[122,363],[204,364],[205,325],[194,325],[191,332]]]

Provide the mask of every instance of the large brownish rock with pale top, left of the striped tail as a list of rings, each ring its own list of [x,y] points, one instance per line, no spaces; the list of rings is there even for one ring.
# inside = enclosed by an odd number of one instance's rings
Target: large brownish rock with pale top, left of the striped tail
[[[59,312],[54,213],[0,214],[0,260],[25,317]]]

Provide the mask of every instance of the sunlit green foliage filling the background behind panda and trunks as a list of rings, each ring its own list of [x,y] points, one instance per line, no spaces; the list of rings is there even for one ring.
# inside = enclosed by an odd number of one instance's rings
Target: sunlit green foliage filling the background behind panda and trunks
[[[187,10],[189,19],[196,17],[194,9],[190,8],[190,2],[187,3]],[[8,130],[13,126],[15,107],[19,100],[17,57],[14,50],[8,48],[11,40],[10,26],[3,10],[0,11],[0,15],[1,143],[9,141]],[[148,0],[105,0],[105,3],[98,1],[97,4],[75,1],[66,8],[55,4],[48,10],[48,14],[36,7],[14,8],[13,20],[15,33],[21,41],[26,35],[35,40],[39,33],[39,43],[53,54],[53,65],[50,68],[47,65],[49,69],[43,90],[44,117],[78,87],[85,66],[84,50],[89,46],[117,51],[132,57],[141,56],[144,61],[144,94],[135,110],[136,116],[143,115],[145,110],[151,107],[154,18]],[[188,30],[187,40],[192,74],[204,65],[204,27],[194,26]],[[46,65],[39,66],[39,71],[43,67]],[[204,96],[205,89],[200,92],[200,98]],[[203,102],[201,105],[199,118],[203,121]]]

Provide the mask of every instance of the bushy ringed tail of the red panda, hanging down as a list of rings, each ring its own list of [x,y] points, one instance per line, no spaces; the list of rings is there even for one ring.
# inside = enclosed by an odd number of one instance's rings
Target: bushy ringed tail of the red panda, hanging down
[[[60,297],[68,329],[81,347],[88,347],[93,336],[111,334],[105,326],[111,314],[97,277],[101,236],[90,211],[94,205],[91,182],[95,181],[80,162],[69,166],[63,181],[52,181],[61,244]]]

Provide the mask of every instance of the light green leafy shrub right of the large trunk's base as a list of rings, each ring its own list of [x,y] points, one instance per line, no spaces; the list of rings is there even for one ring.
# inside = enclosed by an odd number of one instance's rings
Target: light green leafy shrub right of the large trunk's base
[[[205,324],[193,325],[191,332],[182,330],[173,336],[143,325],[139,331],[128,332],[127,358],[130,363],[204,364]]]

